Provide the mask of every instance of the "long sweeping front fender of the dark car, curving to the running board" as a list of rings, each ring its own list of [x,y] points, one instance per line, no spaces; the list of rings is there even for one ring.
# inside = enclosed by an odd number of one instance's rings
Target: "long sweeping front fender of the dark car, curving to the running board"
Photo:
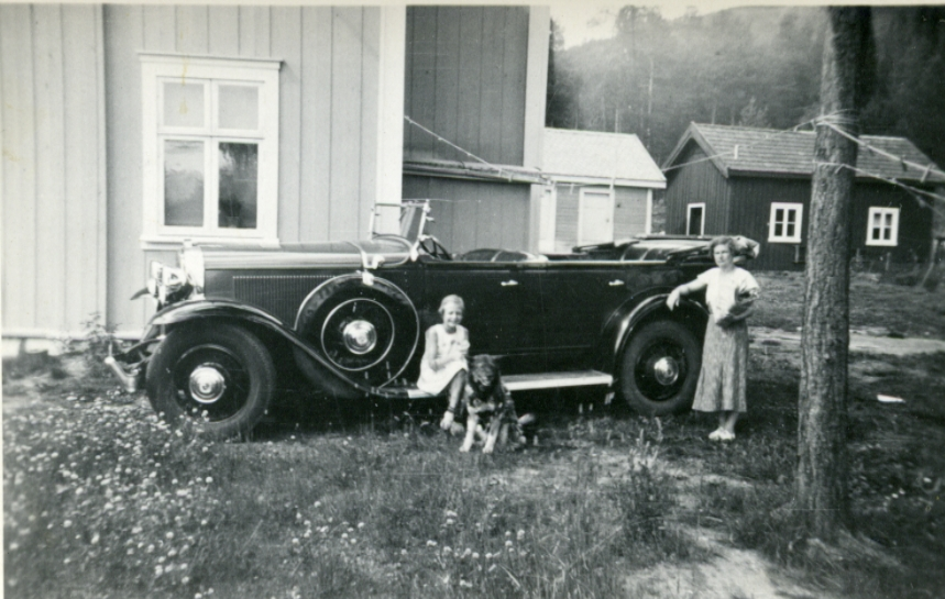
[[[399,398],[404,395],[353,380],[330,364],[294,331],[286,329],[277,318],[264,310],[233,300],[199,299],[169,306],[152,318],[145,337],[155,336],[158,330],[167,326],[207,320],[220,320],[234,324],[249,323],[275,334],[289,344],[303,374],[319,389],[331,396],[355,399],[365,396]]]

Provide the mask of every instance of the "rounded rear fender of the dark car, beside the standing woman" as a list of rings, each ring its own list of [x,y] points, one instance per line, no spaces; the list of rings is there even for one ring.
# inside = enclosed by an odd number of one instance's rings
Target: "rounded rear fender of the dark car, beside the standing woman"
[[[602,335],[604,345],[600,351],[600,363],[604,371],[617,373],[619,357],[634,332],[641,324],[655,319],[664,318],[682,322],[701,340],[705,323],[708,322],[708,311],[702,303],[686,298],[680,298],[679,306],[670,310],[666,304],[669,292],[660,292],[642,300],[634,298],[614,313]]]

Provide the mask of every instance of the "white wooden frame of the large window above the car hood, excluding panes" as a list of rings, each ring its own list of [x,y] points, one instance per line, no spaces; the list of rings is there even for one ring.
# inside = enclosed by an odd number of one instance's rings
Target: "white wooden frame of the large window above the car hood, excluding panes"
[[[142,80],[144,248],[161,248],[185,240],[213,243],[278,244],[278,132],[279,60],[195,57],[176,54],[140,54]],[[205,86],[204,126],[200,130],[165,126],[164,81],[187,78]],[[252,86],[259,89],[259,127],[252,131],[219,130],[216,124],[220,85]],[[164,142],[204,141],[205,223],[202,226],[164,224]],[[210,142],[210,143],[207,143]],[[219,169],[215,166],[212,142],[257,144],[256,228],[219,228],[210,204],[218,202]]]

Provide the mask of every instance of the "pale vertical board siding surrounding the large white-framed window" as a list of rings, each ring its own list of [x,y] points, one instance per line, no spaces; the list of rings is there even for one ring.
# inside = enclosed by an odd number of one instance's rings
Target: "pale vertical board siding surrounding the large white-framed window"
[[[380,9],[112,5],[105,11],[108,102],[108,320],[140,328],[131,302],[144,251],[140,52],[282,60],[278,235],[283,243],[360,237],[376,187]],[[374,96],[373,98],[371,96]]]

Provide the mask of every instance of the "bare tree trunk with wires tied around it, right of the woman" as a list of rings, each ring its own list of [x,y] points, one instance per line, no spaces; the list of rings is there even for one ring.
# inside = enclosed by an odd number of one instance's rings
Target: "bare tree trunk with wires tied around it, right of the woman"
[[[801,337],[796,508],[812,536],[832,541],[848,523],[846,399],[849,345],[849,217],[870,12],[831,8],[814,148]]]

